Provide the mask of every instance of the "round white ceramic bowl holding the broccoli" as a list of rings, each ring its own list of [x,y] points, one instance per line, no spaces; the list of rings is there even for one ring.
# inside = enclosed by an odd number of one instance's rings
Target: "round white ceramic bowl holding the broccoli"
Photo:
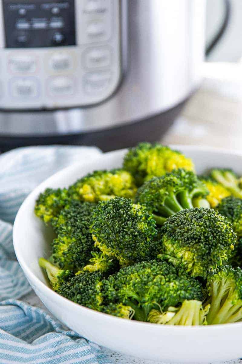
[[[191,157],[197,173],[211,167],[231,167],[242,174],[242,154],[195,146],[172,146]],[[24,201],[13,228],[14,248],[29,283],[44,305],[60,321],[87,339],[113,351],[145,359],[208,363],[242,356],[242,323],[182,327],[156,325],[99,313],[61,297],[52,291],[38,266],[48,257],[50,229],[34,215],[34,203],[46,187],[64,187],[97,169],[122,166],[125,150],[103,154],[95,161],[70,166],[41,183]],[[34,171],[33,171],[34,173]]]

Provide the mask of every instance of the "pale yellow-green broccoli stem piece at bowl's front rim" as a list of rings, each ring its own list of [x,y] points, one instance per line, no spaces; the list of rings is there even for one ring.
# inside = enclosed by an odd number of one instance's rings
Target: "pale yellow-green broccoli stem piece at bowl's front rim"
[[[162,325],[206,325],[206,315],[209,312],[210,305],[202,307],[201,301],[185,300],[180,307],[169,307],[167,311],[152,309],[148,316],[148,321],[154,324]]]

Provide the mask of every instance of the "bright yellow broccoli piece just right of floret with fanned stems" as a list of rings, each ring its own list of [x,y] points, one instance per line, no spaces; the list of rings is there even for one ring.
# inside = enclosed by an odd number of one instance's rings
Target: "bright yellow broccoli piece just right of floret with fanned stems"
[[[223,198],[231,195],[229,190],[227,190],[224,186],[221,185],[221,183],[218,183],[213,178],[202,176],[200,177],[200,181],[206,185],[209,191],[206,199],[213,209],[222,201]]]

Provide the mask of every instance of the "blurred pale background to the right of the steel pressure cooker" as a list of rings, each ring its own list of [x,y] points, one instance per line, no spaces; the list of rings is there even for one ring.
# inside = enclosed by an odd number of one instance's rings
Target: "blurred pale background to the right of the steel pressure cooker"
[[[206,1],[206,42],[225,16],[224,2]],[[242,150],[242,1],[230,1],[227,29],[203,66],[204,80],[164,143],[209,145]]]

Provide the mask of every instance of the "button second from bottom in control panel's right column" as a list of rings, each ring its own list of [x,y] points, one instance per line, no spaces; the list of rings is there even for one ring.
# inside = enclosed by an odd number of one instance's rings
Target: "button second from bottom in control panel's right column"
[[[107,67],[111,63],[111,52],[108,48],[91,48],[84,54],[87,68]]]

